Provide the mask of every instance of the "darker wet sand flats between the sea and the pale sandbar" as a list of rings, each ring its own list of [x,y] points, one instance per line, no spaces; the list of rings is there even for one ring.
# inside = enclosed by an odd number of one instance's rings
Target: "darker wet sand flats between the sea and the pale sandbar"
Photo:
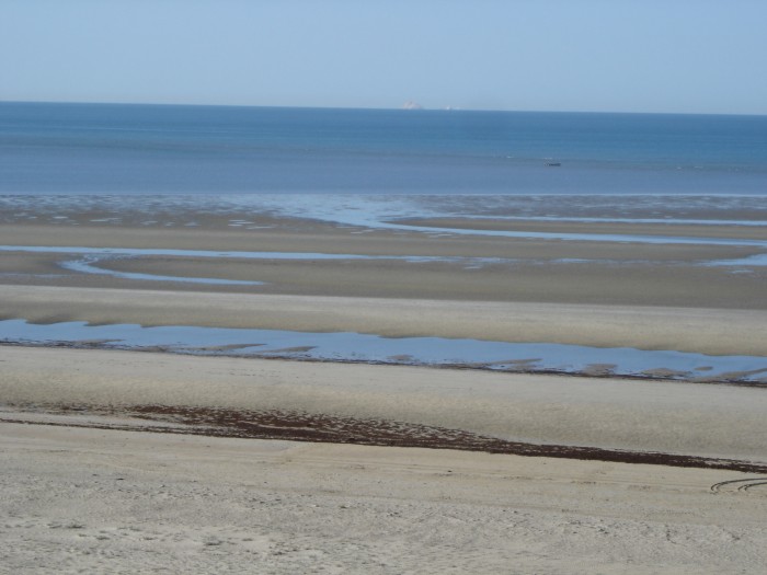
[[[92,217],[70,223],[9,223],[0,228],[0,245],[351,254],[358,258],[243,260],[190,254],[106,258],[99,263],[101,268],[114,273],[180,278],[180,281],[160,283],[73,273],[61,267],[61,262],[67,260],[62,254],[5,252],[0,257],[0,284],[398,300],[767,309],[764,297],[767,266],[708,265],[763,253],[765,249],[758,245],[563,241],[481,234],[433,237],[415,231],[359,229],[275,217],[250,229],[230,228],[218,219],[208,219],[198,214],[195,217],[198,226],[192,229],[179,226],[145,229],[135,222],[107,225],[102,218]],[[565,230],[570,223],[528,221],[518,226],[522,229],[557,226]],[[598,228],[598,225],[580,226]],[[619,225],[610,226],[622,229]],[[626,229],[631,226],[626,225]],[[752,239],[764,233],[763,227],[696,226],[695,230],[696,235],[705,235],[707,230],[719,234],[732,231],[734,237],[747,234]],[[364,256],[375,258],[359,258]],[[262,285],[201,287],[183,281],[185,277]]]

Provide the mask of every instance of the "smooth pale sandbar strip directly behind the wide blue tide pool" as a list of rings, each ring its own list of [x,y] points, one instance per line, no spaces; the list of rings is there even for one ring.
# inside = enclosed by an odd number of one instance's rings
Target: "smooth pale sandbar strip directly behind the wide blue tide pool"
[[[37,323],[357,332],[765,356],[766,312],[0,286],[0,317]]]

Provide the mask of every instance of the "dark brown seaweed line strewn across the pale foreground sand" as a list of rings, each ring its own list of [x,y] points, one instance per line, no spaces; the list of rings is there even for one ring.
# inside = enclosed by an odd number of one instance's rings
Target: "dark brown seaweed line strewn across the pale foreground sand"
[[[27,410],[24,410],[23,406],[16,407],[22,411],[31,411],[28,406]],[[153,423],[164,422],[182,424],[185,427],[163,427],[158,425],[137,427],[119,424],[70,424],[51,422],[46,422],[42,425],[203,435],[210,437],[455,449],[524,457],[549,457],[617,463],[720,469],[767,474],[767,464],[752,463],[748,461],[655,451],[627,451],[598,447],[525,444],[482,436],[460,429],[448,429],[384,419],[358,419],[353,417],[281,411],[253,412],[168,405],[129,405],[122,407],[56,405],[41,407],[42,406],[38,405],[34,411],[57,414],[88,413],[91,415],[133,416]],[[36,422],[19,422],[13,419],[0,419],[0,422],[30,423],[37,425]]]

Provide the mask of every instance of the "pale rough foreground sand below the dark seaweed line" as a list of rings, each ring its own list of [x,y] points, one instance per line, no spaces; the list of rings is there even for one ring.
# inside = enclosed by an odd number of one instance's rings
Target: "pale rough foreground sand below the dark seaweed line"
[[[732,471],[0,430],[2,573],[719,574],[767,561],[767,488],[739,491],[754,475]],[[712,491],[723,481],[739,483]]]

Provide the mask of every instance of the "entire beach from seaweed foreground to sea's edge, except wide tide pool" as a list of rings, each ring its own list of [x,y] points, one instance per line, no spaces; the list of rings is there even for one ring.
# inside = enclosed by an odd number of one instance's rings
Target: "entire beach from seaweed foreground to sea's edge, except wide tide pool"
[[[376,227],[159,199],[4,202],[2,320],[767,357],[767,267],[747,260],[767,237],[740,208],[718,225],[637,208],[633,223],[414,214]],[[529,357],[492,370],[231,357],[234,344],[195,357],[93,333],[0,346],[0,572],[767,564],[764,369],[562,375]],[[389,359],[375,363],[409,361]]]

